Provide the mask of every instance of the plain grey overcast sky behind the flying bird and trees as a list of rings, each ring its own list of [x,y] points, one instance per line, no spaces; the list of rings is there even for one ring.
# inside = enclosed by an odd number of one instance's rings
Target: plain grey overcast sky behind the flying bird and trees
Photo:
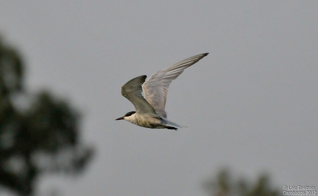
[[[1,1],[25,87],[79,108],[97,150],[82,175],[39,178],[38,194],[204,196],[223,166],[317,190],[318,1],[157,2]],[[168,119],[188,128],[115,121],[135,110],[128,80],[207,52],[169,88]]]

